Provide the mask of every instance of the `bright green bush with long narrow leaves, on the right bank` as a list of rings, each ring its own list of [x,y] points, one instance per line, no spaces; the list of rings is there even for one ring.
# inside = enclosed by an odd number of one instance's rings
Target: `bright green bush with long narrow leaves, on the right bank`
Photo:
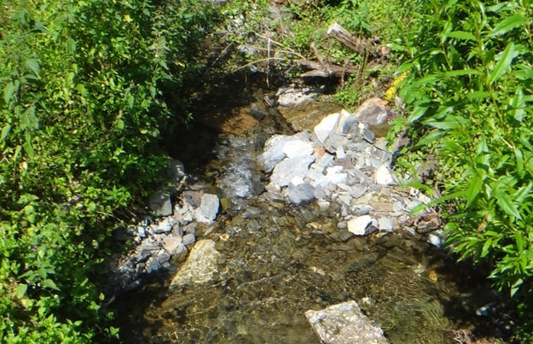
[[[402,89],[411,155],[441,162],[437,203],[460,257],[489,260],[490,278],[527,312],[533,281],[533,72],[529,1],[432,0]],[[530,304],[530,303],[529,303]],[[529,310],[531,311],[531,310]]]

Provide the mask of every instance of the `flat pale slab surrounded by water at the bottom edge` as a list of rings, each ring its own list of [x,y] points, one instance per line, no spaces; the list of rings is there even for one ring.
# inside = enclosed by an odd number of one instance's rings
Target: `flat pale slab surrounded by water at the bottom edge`
[[[355,301],[325,310],[308,310],[306,317],[324,344],[388,344],[383,330],[361,312]]]

